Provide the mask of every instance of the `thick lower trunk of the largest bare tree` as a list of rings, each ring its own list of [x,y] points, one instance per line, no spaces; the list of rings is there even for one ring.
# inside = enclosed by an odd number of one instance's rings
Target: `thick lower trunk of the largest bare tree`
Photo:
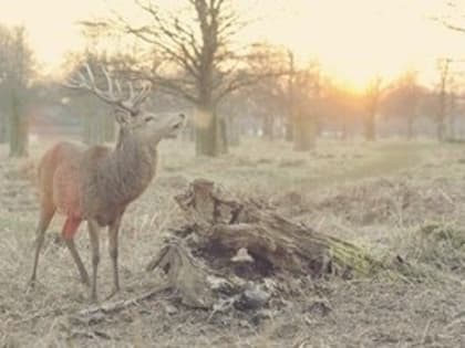
[[[211,103],[202,103],[195,114],[196,154],[217,157],[228,151],[226,120]]]

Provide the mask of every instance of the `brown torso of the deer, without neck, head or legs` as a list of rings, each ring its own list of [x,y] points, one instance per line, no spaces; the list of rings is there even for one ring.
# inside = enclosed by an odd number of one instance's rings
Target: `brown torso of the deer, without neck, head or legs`
[[[116,149],[53,146],[39,167],[41,196],[53,204],[48,209],[70,219],[94,219],[100,226],[115,221],[145,191],[156,170],[156,149],[127,143]]]

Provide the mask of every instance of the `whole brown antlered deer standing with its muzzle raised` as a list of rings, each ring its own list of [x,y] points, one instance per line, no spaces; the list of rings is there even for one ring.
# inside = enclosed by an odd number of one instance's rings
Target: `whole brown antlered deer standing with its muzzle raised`
[[[90,286],[91,302],[96,303],[101,230],[107,228],[108,232],[113,270],[110,298],[120,291],[118,231],[124,212],[155,177],[158,143],[175,137],[184,125],[185,116],[162,116],[145,112],[142,104],[151,93],[151,84],[144,84],[135,92],[128,82],[128,88],[124,89],[102,66],[106,88],[100,88],[92,68],[89,64],[84,67],[64,85],[91,93],[113,106],[120,127],[118,137],[113,147],[97,145],[86,148],[71,141],[61,141],[42,156],[38,166],[40,218],[35,230],[30,284],[33,286],[37,282],[45,231],[58,212],[65,217],[61,236],[78,267],[81,282]],[[92,282],[74,243],[83,221],[87,223],[90,236]]]

